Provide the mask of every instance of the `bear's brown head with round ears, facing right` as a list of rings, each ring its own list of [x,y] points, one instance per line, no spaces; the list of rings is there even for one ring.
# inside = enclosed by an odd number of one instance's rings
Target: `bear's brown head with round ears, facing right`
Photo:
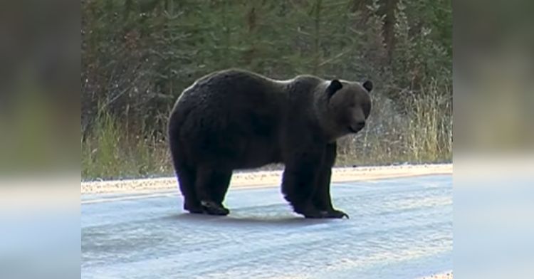
[[[346,80],[327,82],[322,99],[328,100],[323,107],[328,123],[323,124],[328,125],[327,130],[331,140],[357,133],[365,127],[371,112],[372,87],[370,80],[363,83]]]

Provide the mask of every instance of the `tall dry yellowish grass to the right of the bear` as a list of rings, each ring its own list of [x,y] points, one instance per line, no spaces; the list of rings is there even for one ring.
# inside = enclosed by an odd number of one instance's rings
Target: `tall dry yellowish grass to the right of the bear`
[[[441,90],[441,91],[440,91]],[[338,165],[451,162],[452,107],[443,85],[431,83],[410,95],[410,110],[396,112],[392,101],[374,95],[365,130],[340,140]]]

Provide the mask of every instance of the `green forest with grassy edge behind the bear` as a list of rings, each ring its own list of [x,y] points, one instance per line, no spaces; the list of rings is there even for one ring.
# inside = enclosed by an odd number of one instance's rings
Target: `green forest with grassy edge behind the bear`
[[[82,179],[172,175],[166,125],[224,68],[375,84],[337,165],[451,162],[451,0],[83,0]],[[278,166],[268,166],[276,168]]]

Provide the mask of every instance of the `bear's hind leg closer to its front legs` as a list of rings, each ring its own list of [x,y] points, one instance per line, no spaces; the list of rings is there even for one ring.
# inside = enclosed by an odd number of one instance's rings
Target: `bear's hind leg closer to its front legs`
[[[226,216],[230,213],[222,205],[231,179],[231,170],[203,166],[197,172],[197,195],[206,214]]]

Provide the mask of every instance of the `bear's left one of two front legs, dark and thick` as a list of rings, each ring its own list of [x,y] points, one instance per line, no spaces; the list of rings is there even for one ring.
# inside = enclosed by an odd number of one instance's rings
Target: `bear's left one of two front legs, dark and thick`
[[[323,218],[313,204],[315,179],[323,161],[324,149],[306,149],[292,152],[286,159],[282,177],[282,193],[293,210],[306,218]]]

